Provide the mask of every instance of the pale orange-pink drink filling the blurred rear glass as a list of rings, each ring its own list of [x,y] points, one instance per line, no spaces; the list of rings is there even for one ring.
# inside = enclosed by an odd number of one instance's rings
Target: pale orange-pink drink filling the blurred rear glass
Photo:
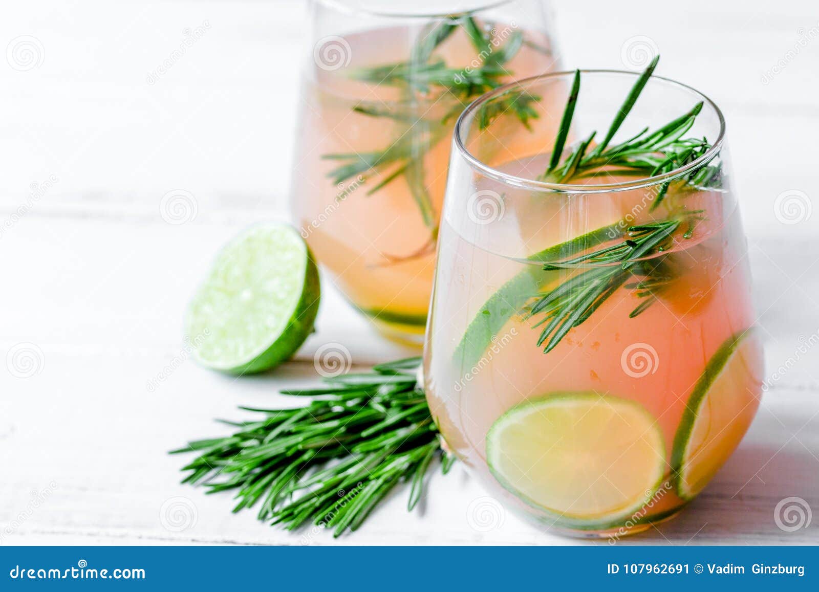
[[[518,30],[495,25],[505,40]],[[455,113],[446,124],[436,125],[432,139],[419,126],[404,121],[373,117],[354,111],[362,102],[396,108],[405,91],[388,84],[352,79],[351,72],[409,58],[414,35],[410,29],[391,28],[346,35],[351,62],[338,70],[322,70],[305,77],[301,93],[301,123],[294,160],[292,209],[302,235],[337,286],[356,307],[393,329],[420,339],[427,319],[437,220],[446,184],[451,134],[459,109],[471,99],[456,98],[432,88],[428,95],[415,94],[413,113],[440,121]],[[526,31],[527,43],[505,68],[505,80],[553,70],[555,58],[542,34]],[[480,64],[477,52],[461,29],[447,38],[434,53],[450,67]],[[527,133],[518,124],[521,138]],[[368,195],[395,167],[371,169],[360,177],[336,183],[328,174],[336,160],[323,155],[382,151],[409,138],[423,163],[422,183],[434,210],[433,224],[425,224],[409,183],[399,177]]]

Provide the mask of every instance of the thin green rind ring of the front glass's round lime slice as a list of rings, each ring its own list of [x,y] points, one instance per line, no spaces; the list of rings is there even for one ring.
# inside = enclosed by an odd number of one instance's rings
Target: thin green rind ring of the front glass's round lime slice
[[[541,511],[541,513],[545,514],[545,517],[542,517],[541,520],[548,521],[549,526],[558,526],[563,528],[570,528],[576,531],[608,531],[613,528],[618,528],[623,526],[631,517],[633,517],[641,508],[644,508],[646,504],[648,504],[651,499],[654,499],[654,496],[657,495],[658,490],[663,483],[667,481],[668,477],[666,474],[661,475],[658,477],[657,481],[654,483],[653,486],[646,488],[645,496],[643,499],[640,499],[639,502],[636,502],[634,505],[625,508],[618,513],[613,513],[609,516],[605,517],[595,517],[595,518],[586,518],[586,517],[577,517],[572,516],[568,513],[560,512],[559,510],[555,510],[554,508],[546,508],[545,506],[538,504],[535,500],[531,499],[527,495],[521,493],[515,486],[513,486],[509,481],[504,477],[503,473],[500,470],[495,468],[497,454],[500,451],[493,450],[496,449],[496,446],[492,446],[492,442],[495,440],[495,434],[500,432],[503,429],[503,424],[508,421],[510,418],[514,418],[515,415],[527,409],[529,407],[539,407],[542,406],[545,402],[554,402],[557,400],[577,400],[577,398],[585,398],[587,396],[593,396],[595,401],[600,400],[600,398],[604,398],[607,400],[616,400],[617,404],[624,404],[630,405],[634,409],[637,409],[645,415],[645,418],[649,420],[650,423],[656,423],[656,419],[654,418],[651,413],[643,405],[637,403],[636,401],[622,399],[621,397],[616,397],[612,395],[600,395],[598,393],[592,392],[572,392],[572,391],[563,391],[563,392],[554,392],[550,395],[545,395],[543,397],[539,397],[537,399],[531,399],[523,401],[523,403],[517,404],[514,407],[507,409],[507,411],[495,420],[495,423],[489,428],[489,432],[486,432],[486,464],[489,467],[489,471],[491,472],[492,476],[500,483],[501,486],[504,487],[505,490],[508,490],[510,493],[514,494],[518,499],[521,499],[525,504],[532,506],[532,508],[536,508],[537,510]],[[664,450],[664,441],[662,437],[658,438],[658,444],[663,448],[661,451],[662,454],[659,454],[659,458],[665,459],[665,450]],[[493,454],[494,452],[494,454]],[[493,460],[494,459],[494,460]],[[664,461],[663,461],[664,462]],[[653,516],[645,516],[640,517],[639,522],[632,521],[633,524],[642,524],[645,522],[656,522],[658,520],[662,520],[663,518],[670,516],[671,514],[675,513],[679,508],[673,508],[669,510],[667,513],[658,513]]]

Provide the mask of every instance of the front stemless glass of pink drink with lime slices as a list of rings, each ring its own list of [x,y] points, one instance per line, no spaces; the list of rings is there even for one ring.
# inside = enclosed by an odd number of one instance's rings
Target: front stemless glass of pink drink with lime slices
[[[487,93],[456,124],[425,389],[446,444],[492,495],[541,525],[616,537],[672,517],[735,450],[758,408],[762,348],[708,97],[649,79],[609,146],[699,102],[683,138],[713,142],[654,176],[602,165],[545,182],[554,129],[518,146],[508,118],[482,124],[522,90],[565,105],[572,75]],[[582,72],[566,145],[600,138],[635,81]]]

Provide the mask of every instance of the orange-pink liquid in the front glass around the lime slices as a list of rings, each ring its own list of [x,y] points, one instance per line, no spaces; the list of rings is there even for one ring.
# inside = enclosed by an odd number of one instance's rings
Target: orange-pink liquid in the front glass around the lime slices
[[[534,162],[542,170],[546,160]],[[528,176],[523,169],[531,166],[527,161],[506,168]],[[666,477],[672,480],[674,439],[695,383],[720,346],[754,323],[746,246],[731,196],[685,188],[649,212],[645,195],[645,189],[554,198],[513,191],[505,195],[503,217],[485,226],[473,226],[457,208],[445,213],[425,350],[428,401],[459,459],[493,495],[530,515],[538,513],[500,486],[487,467],[486,433],[503,413],[559,391],[636,401],[656,418],[667,454]],[[527,266],[536,265],[522,262],[527,256],[619,219],[640,224],[681,208],[704,210],[704,220],[690,238],[675,237],[669,255],[675,279],[642,314],[629,318],[642,300],[636,290],[622,287],[549,353],[536,346],[541,330],[532,325],[538,319],[514,314],[479,361],[459,355],[464,332],[486,301]],[[580,271],[549,272],[550,286]],[[728,436],[722,450],[708,453],[721,458],[739,444],[758,408],[762,350],[758,337],[749,339],[749,363],[735,375],[735,386],[716,401],[739,410],[724,427]],[[673,488],[663,490],[645,508],[643,522],[667,517],[684,503]]]

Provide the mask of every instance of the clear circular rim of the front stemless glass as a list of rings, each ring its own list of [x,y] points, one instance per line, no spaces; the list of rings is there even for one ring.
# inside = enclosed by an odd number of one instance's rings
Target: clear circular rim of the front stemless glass
[[[696,169],[699,166],[708,163],[709,161],[713,160],[714,157],[717,156],[720,150],[722,150],[722,143],[725,139],[725,117],[722,115],[722,111],[717,106],[715,102],[713,102],[710,98],[708,98],[703,93],[700,93],[694,87],[689,86],[688,84],[683,84],[678,82],[674,79],[665,78],[664,76],[656,76],[652,75],[649,79],[648,84],[651,84],[652,79],[662,80],[665,83],[670,83],[677,88],[685,89],[686,91],[690,91],[695,95],[699,96],[700,99],[710,106],[713,111],[717,114],[717,119],[719,120],[719,134],[717,135],[717,140],[713,142],[710,148],[702,156],[699,156],[696,160],[692,160],[687,165],[683,165],[668,173],[663,174],[656,174],[650,177],[644,177],[642,179],[635,179],[631,181],[623,181],[621,183],[595,183],[595,184],[576,184],[576,183],[549,183],[546,181],[537,181],[536,179],[527,179],[526,177],[518,177],[514,174],[504,173],[491,165],[487,165],[477,156],[473,155],[472,152],[468,151],[467,147],[464,146],[464,140],[461,136],[461,131],[464,128],[464,124],[469,115],[471,115],[474,111],[477,110],[478,107],[482,106],[487,101],[495,97],[499,97],[503,93],[508,92],[514,88],[522,88],[524,85],[531,85],[536,82],[539,82],[544,79],[550,78],[558,78],[560,76],[573,76],[576,70],[562,70],[559,72],[548,72],[546,74],[530,76],[528,78],[514,80],[513,82],[509,82],[491,90],[488,93],[482,94],[480,97],[477,97],[473,102],[469,103],[469,105],[464,109],[464,111],[459,115],[458,120],[455,122],[455,130],[453,131],[453,137],[455,139],[455,147],[459,151],[460,155],[464,157],[464,159],[469,163],[469,165],[476,169],[477,171],[481,172],[482,174],[486,175],[486,177],[490,177],[491,179],[495,179],[496,181],[500,181],[501,183],[506,183],[508,185],[512,185],[518,188],[524,189],[533,189],[537,191],[550,191],[550,192],[560,192],[560,193],[604,193],[604,192],[617,192],[617,191],[627,191],[629,189],[640,189],[640,188],[647,188],[653,187],[655,185],[660,185],[662,183],[666,183],[667,181],[672,181],[683,174],[686,174],[692,169]],[[632,70],[580,70],[581,74],[614,74],[614,75],[629,75],[633,77],[639,76],[640,72],[635,72]]]

